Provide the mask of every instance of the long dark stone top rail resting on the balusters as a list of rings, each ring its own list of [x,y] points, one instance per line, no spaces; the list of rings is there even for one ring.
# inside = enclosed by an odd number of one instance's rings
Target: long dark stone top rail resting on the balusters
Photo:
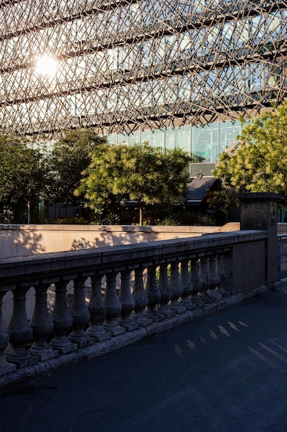
[[[0,291],[14,284],[30,284],[57,277],[74,279],[91,271],[107,273],[160,264],[162,260],[191,258],[206,251],[220,252],[235,244],[267,238],[266,231],[246,230],[216,233],[187,239],[162,240],[123,246],[103,246],[81,251],[43,253],[0,260]]]

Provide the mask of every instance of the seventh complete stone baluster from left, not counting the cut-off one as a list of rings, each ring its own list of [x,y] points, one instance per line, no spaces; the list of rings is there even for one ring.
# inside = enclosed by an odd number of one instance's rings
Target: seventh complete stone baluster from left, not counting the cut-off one
[[[134,320],[131,320],[131,312],[134,311],[136,302],[131,295],[131,271],[129,270],[120,272],[120,293],[118,300],[120,300],[120,304],[122,305],[122,311],[118,319],[120,326],[125,327],[127,331],[135,330],[135,328],[138,328],[138,324]]]

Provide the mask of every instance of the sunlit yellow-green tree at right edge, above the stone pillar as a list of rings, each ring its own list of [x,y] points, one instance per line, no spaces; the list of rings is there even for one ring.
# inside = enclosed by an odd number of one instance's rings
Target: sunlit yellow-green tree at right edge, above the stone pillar
[[[242,126],[235,148],[220,156],[215,177],[237,192],[281,193],[286,203],[287,101]]]

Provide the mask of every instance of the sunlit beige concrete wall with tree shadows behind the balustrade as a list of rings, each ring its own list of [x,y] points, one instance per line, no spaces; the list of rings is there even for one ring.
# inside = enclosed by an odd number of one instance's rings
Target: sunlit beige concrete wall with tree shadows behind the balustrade
[[[239,224],[226,224],[224,227],[1,224],[0,259],[195,237],[239,229]]]

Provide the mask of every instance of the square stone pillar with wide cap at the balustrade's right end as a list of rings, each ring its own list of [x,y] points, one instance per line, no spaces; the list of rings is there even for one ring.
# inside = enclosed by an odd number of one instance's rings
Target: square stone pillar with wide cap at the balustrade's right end
[[[267,230],[266,286],[273,289],[277,279],[277,213],[279,193],[239,193],[240,229]]]

